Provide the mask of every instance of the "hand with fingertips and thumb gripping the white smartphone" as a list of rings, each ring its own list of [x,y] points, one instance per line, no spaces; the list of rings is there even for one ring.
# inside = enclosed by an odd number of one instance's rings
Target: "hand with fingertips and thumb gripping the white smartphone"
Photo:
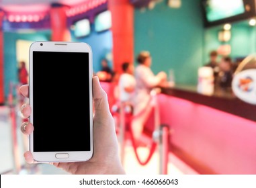
[[[28,85],[20,87],[22,95],[28,97]],[[85,162],[54,162],[54,166],[72,174],[124,174],[124,169],[118,156],[118,140],[114,127],[114,120],[108,105],[108,96],[100,86],[99,78],[93,77],[93,144],[94,153],[90,160]],[[28,118],[31,107],[22,105],[22,114]],[[34,127],[30,122],[22,124],[22,132],[32,134]],[[25,152],[28,163],[34,163],[31,152]]]

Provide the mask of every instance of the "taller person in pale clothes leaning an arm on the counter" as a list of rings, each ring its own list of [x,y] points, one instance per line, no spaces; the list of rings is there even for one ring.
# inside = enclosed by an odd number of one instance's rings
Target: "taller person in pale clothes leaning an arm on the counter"
[[[151,54],[146,51],[140,52],[137,57],[138,66],[135,69],[135,95],[134,115],[138,116],[132,121],[134,137],[138,139],[142,133],[143,126],[151,113],[152,105],[151,90],[154,87],[167,82],[167,75],[160,72],[157,75],[151,71]]]

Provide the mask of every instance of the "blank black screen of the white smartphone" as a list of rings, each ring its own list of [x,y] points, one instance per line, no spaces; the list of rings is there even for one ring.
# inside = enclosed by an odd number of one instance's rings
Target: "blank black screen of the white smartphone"
[[[33,52],[34,152],[89,151],[89,53]]]

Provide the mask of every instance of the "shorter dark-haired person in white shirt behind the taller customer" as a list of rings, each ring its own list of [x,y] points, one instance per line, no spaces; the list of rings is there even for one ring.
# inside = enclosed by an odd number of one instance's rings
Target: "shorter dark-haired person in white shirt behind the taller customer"
[[[131,104],[136,85],[136,81],[133,76],[134,66],[128,62],[124,62],[124,64],[122,64],[122,70],[124,73],[120,76],[118,83],[120,89],[120,101]]]

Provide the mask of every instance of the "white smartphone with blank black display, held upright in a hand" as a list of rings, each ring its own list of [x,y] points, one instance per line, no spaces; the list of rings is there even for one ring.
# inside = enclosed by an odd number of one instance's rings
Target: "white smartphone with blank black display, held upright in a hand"
[[[81,42],[34,42],[29,75],[34,160],[89,160],[93,156],[91,47]]]

